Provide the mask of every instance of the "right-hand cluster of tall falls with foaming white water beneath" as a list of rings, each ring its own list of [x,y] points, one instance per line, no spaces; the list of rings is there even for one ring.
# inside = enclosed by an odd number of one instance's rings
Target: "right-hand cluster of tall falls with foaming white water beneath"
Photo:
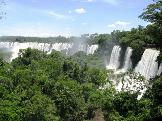
[[[114,46],[111,53],[110,63],[107,68],[113,68],[115,70],[108,75],[108,78],[113,82],[113,85],[117,91],[139,91],[140,94],[138,95],[138,99],[140,99],[147,90],[147,86],[149,86],[147,80],[154,78],[156,75],[160,75],[162,73],[162,63],[158,68],[158,63],[156,62],[156,59],[160,53],[158,50],[146,49],[142,55],[141,60],[134,69],[135,73],[126,72],[128,69],[132,68],[132,51],[133,50],[130,47],[127,48],[124,57],[123,68],[116,70],[118,69],[119,65],[118,61],[120,57],[120,48],[118,46]],[[141,78],[140,74],[144,76],[145,79]],[[106,88],[106,85],[104,88]]]

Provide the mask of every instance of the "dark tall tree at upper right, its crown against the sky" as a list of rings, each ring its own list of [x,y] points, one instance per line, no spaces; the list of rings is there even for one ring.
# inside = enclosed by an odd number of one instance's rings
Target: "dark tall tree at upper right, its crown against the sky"
[[[144,12],[139,16],[141,19],[151,22],[151,25],[147,26],[147,33],[153,41],[156,47],[162,50],[162,1],[154,0],[153,4],[147,6]],[[162,61],[162,51],[158,61]]]

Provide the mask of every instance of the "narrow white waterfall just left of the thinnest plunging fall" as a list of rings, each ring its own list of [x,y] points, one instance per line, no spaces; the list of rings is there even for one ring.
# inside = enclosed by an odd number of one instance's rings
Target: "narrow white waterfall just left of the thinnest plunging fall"
[[[120,66],[120,52],[121,52],[121,47],[118,45],[115,45],[113,47],[111,57],[110,57],[110,62],[109,65],[106,66],[107,69],[118,69]]]

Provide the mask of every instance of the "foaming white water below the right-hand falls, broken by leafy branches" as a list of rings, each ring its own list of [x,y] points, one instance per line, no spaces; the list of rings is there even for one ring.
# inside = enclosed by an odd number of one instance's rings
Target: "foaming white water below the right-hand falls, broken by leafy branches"
[[[148,81],[144,78],[139,78],[140,75],[134,72],[115,74],[108,74],[108,79],[111,80],[114,88],[117,92],[120,91],[130,91],[132,93],[138,92],[138,99],[140,99],[146,92],[148,87]],[[100,89],[106,89],[112,87],[109,83],[100,87]]]

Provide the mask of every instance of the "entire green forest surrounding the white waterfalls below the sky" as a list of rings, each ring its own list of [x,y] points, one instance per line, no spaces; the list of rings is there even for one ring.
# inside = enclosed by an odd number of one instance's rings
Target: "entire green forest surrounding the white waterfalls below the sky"
[[[140,13],[139,13],[140,14]],[[139,18],[150,22],[130,31],[111,34],[85,34],[89,44],[98,44],[94,55],[74,55],[53,50],[22,49],[6,62],[0,59],[0,121],[161,121],[162,76],[149,80],[141,99],[138,91],[117,92],[101,58],[111,48],[110,41],[122,48],[132,47],[135,67],[146,48],[160,50],[162,62],[162,1],[144,9]],[[76,37],[1,37],[15,42],[72,42]],[[106,89],[100,88],[109,84]]]

